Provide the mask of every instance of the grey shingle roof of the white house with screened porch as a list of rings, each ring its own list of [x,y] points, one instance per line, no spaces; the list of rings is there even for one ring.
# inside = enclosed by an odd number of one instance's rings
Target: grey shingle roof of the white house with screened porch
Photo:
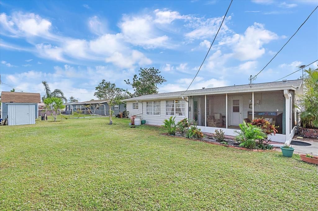
[[[195,89],[195,90],[180,91],[180,92],[149,94],[149,95],[143,95],[143,96],[139,96],[139,97],[124,99],[122,101],[173,97],[173,96],[177,96],[177,95],[180,95],[180,97],[181,97],[181,96],[191,96],[191,95],[213,93],[213,92],[215,92],[215,93],[218,93],[218,92],[229,93],[231,91],[235,92],[235,91],[239,91],[239,90],[248,90],[248,89],[257,89],[257,88],[273,88],[273,87],[279,87],[279,86],[299,87],[299,86],[301,86],[301,82],[302,82],[302,80],[289,80],[289,81],[277,81],[277,82],[252,84],[252,87],[250,87],[249,84],[245,84],[245,85],[224,86],[224,87],[206,88],[206,89]]]

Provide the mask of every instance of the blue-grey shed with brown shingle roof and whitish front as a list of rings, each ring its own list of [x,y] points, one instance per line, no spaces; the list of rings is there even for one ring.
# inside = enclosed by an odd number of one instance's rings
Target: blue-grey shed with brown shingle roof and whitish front
[[[35,124],[40,93],[1,92],[1,101],[1,118],[8,118],[8,125]]]

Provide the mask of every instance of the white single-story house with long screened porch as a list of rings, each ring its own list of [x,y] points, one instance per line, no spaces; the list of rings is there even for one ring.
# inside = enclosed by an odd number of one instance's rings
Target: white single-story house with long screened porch
[[[302,93],[301,80],[202,88],[182,92],[144,95],[124,99],[129,115],[141,116],[146,124],[162,125],[164,119],[194,119],[203,132],[221,128],[235,135],[239,124],[266,118],[278,127],[273,141],[289,143],[295,133],[295,99]]]

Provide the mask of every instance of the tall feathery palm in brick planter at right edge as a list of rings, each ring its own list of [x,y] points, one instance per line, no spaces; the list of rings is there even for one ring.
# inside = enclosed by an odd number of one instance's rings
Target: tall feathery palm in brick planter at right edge
[[[301,103],[296,107],[301,111],[304,128],[318,128],[318,68],[309,68],[304,72],[304,93],[299,95]]]

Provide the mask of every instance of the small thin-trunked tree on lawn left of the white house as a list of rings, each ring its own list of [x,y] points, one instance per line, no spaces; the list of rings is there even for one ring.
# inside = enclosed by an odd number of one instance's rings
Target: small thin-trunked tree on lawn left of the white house
[[[103,99],[107,102],[109,106],[109,124],[112,122],[112,106],[120,104],[120,96],[126,90],[116,87],[115,84],[112,84],[108,81],[102,80],[98,86],[95,87],[96,92],[94,96],[98,99]]]

